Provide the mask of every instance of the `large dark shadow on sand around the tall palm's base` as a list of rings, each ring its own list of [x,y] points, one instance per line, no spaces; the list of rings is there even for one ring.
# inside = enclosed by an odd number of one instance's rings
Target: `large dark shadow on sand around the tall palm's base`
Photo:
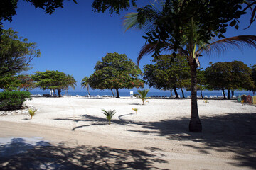
[[[60,119],[59,119],[60,120]],[[73,118],[63,119],[77,121]],[[87,125],[106,125],[104,118],[97,118],[91,115],[83,115],[78,121],[85,121]],[[93,123],[91,123],[91,121]],[[201,117],[203,124],[202,133],[188,132],[189,118],[177,118],[175,120],[161,120],[156,122],[137,122],[124,119],[113,120],[113,123],[126,125],[130,132],[164,136],[169,140],[194,141],[202,144],[184,145],[197,149],[202,154],[216,152],[233,152],[237,163],[230,163],[233,166],[247,166],[256,169],[256,113],[226,113]],[[132,125],[140,125],[140,130],[135,130]],[[129,128],[131,126],[131,128]]]

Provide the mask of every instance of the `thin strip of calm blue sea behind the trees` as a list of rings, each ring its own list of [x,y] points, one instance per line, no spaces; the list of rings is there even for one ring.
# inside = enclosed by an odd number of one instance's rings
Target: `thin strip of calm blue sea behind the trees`
[[[50,94],[50,91],[30,91],[31,94]],[[134,91],[134,93],[137,93],[137,91]],[[88,95],[87,91],[68,91],[68,93],[66,93],[65,91],[63,91],[61,93],[61,95],[69,95],[69,96],[76,96],[76,95],[80,95],[80,96],[86,96]],[[114,91],[115,94],[115,91]],[[228,91],[225,92],[226,96],[228,96]],[[251,95],[253,96],[252,92],[250,91],[235,91],[235,96],[239,96],[242,94],[246,94],[246,95]],[[96,95],[111,95],[112,96],[112,92],[111,91],[91,91],[90,92],[91,96],[96,96]],[[129,91],[120,91],[119,92],[119,96],[129,96]],[[174,92],[173,92],[173,95]],[[182,96],[181,92],[178,92],[178,95]],[[184,91],[184,96],[190,96],[191,95],[191,91]],[[200,96],[200,91],[198,91],[198,96]],[[230,93],[231,95],[231,93]],[[160,92],[151,92],[149,91],[147,96],[171,96],[170,91],[160,91]],[[222,91],[203,91],[203,96],[222,96]]]

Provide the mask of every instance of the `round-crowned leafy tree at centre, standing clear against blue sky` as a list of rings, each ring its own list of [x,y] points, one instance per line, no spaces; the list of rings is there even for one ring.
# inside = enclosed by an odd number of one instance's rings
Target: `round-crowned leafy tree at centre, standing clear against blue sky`
[[[102,57],[102,61],[97,62],[95,72],[89,77],[89,84],[92,89],[115,89],[116,98],[120,98],[119,89],[144,86],[139,74],[142,74],[142,71],[132,60],[128,60],[126,55],[107,53]]]

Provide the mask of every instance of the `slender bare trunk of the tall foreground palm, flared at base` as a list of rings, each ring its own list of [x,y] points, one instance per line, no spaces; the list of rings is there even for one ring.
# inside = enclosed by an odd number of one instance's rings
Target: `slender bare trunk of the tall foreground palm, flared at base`
[[[191,67],[191,120],[189,122],[190,132],[202,132],[202,124],[198,115],[198,105],[196,98],[196,68],[197,64],[195,59],[190,62]]]

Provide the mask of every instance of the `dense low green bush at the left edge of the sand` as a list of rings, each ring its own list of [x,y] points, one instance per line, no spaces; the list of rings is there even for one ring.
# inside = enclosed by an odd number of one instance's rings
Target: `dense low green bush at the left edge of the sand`
[[[21,109],[26,99],[31,99],[28,91],[0,92],[0,111],[13,111]]]

